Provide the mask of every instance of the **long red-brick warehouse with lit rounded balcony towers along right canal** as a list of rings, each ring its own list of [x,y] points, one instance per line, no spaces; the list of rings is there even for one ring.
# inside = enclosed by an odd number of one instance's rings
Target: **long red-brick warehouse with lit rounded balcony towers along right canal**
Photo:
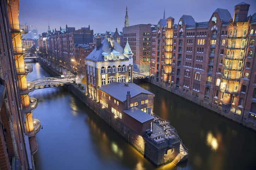
[[[177,25],[172,17],[160,22],[165,50],[159,60],[151,56],[150,81],[256,130],[256,13],[247,17],[249,6],[236,5],[233,18],[218,8],[206,22],[190,15]]]

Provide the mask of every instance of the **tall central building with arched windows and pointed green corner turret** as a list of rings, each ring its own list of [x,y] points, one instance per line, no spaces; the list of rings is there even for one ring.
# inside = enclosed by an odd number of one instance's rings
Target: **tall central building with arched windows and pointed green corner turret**
[[[99,101],[96,88],[112,82],[132,82],[132,51],[128,42],[123,49],[112,38],[101,41],[96,37],[96,48],[85,57],[87,93]]]

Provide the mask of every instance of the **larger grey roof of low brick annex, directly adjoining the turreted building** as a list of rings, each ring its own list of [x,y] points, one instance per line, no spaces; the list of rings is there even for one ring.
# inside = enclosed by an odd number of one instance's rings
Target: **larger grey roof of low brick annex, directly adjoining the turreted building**
[[[127,92],[130,92],[131,98],[142,93],[154,95],[153,93],[138,86],[135,83],[128,83],[128,86],[125,86],[125,83],[112,82],[98,88],[121,102],[126,101]]]

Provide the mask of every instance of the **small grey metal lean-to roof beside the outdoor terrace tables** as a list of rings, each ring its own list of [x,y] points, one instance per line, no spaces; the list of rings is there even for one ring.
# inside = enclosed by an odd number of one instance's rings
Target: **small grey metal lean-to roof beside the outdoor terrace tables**
[[[151,116],[148,113],[145,113],[138,109],[137,107],[132,107],[130,110],[124,110],[124,113],[128,114],[130,117],[136,119],[137,121],[144,123],[146,121],[149,121],[151,119],[154,119],[153,116]]]

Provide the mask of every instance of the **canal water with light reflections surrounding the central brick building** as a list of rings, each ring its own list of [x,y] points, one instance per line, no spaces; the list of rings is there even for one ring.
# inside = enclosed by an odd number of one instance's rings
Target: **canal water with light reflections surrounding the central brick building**
[[[28,80],[49,76],[39,63],[33,66]],[[174,170],[256,169],[255,132],[152,84],[138,84],[156,94],[154,113],[170,120],[189,148],[188,162]],[[36,135],[37,170],[156,169],[63,87],[31,96],[38,100],[33,117],[43,126]]]

